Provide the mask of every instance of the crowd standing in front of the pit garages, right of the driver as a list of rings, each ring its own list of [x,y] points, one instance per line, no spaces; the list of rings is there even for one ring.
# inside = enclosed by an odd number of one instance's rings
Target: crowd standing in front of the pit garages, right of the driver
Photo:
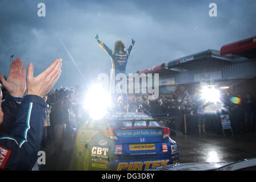
[[[221,133],[220,114],[229,114],[231,127],[234,133],[256,133],[255,124],[255,102],[251,94],[246,98],[238,95],[235,98],[241,100],[239,103],[231,102],[230,93],[222,93],[221,102],[223,107],[220,110],[207,111],[205,108],[210,103],[205,103],[200,96],[190,96],[185,91],[177,91],[170,94],[161,94],[157,100],[148,100],[147,96],[129,96],[129,111],[139,111],[157,117],[159,114],[168,114],[174,125],[170,129],[175,134],[180,135],[184,132],[183,121],[186,115],[189,133],[206,133],[206,128],[215,133]]]

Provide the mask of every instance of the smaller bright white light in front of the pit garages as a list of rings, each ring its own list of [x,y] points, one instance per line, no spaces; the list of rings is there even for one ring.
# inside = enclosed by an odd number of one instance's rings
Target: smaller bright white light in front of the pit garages
[[[219,90],[215,89],[213,86],[203,87],[201,92],[201,98],[205,99],[206,102],[221,102],[219,99],[221,94],[219,93]]]

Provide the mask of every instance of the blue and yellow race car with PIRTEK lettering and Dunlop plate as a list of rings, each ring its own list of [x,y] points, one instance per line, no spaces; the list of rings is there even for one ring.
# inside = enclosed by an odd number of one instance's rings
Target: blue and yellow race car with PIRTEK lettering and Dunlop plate
[[[142,171],[178,163],[169,127],[141,113],[106,114],[78,129],[72,170]]]

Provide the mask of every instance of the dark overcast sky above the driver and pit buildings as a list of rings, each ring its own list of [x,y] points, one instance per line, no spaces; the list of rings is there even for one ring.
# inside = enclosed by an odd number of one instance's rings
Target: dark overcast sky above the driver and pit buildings
[[[136,41],[127,73],[256,35],[255,0],[0,2],[0,72],[8,75],[10,55],[26,66],[32,62],[34,75],[62,57],[55,88],[82,85],[78,69],[87,80],[110,73],[110,57],[96,34],[112,49],[116,40],[126,48]],[[45,17],[37,15],[41,2]],[[217,4],[217,17],[209,16],[211,2]]]

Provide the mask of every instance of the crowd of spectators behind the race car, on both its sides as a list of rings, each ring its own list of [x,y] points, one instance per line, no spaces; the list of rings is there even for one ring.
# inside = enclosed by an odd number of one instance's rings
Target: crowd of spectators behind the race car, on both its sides
[[[71,138],[74,138],[78,123],[86,119],[85,110],[82,108],[81,93],[79,89],[62,87],[61,89],[51,90],[47,94],[46,102],[51,106],[50,122],[45,122],[42,147],[47,147],[50,143],[55,142],[58,147],[62,148],[61,141],[63,137],[68,136],[67,139],[70,139],[71,134],[73,136]],[[176,135],[182,135],[185,132],[184,115],[186,115],[187,133],[201,134],[206,133],[206,131],[221,133],[220,114],[230,115],[234,133],[255,133],[253,117],[255,106],[251,95],[247,94],[247,98],[242,99],[240,104],[232,103],[230,98],[229,94],[222,94],[221,100],[225,108],[209,113],[204,110],[207,104],[202,103],[200,96],[191,96],[187,91],[161,94],[157,100],[149,100],[148,96],[130,94],[128,96],[128,111],[145,113],[152,117],[161,117],[168,114],[170,130]],[[117,102],[120,100],[122,99],[117,97]]]

